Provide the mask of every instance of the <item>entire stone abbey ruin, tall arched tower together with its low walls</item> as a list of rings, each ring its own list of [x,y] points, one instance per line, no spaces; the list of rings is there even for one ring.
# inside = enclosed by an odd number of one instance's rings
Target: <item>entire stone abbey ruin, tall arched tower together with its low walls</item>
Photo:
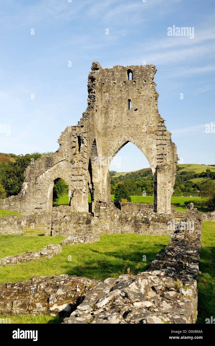
[[[102,69],[93,62],[81,120],[65,129],[56,153],[28,166],[18,195],[0,200],[0,209],[22,214],[1,217],[0,234],[22,234],[36,225],[45,235],[66,238],[37,252],[4,257],[0,269],[51,258],[63,246],[93,243],[103,234],[170,236],[169,245],[137,275],[100,281],[56,274],[1,284],[0,313],[58,315],[68,324],[196,322],[202,222],[215,221],[215,212],[198,212],[192,203],[186,213],[177,212],[170,204],[178,157],[158,113],[155,73],[154,65]],[[128,142],[150,163],[153,203],[111,202],[110,161]],[[69,205],[53,207],[59,178],[68,184]]]

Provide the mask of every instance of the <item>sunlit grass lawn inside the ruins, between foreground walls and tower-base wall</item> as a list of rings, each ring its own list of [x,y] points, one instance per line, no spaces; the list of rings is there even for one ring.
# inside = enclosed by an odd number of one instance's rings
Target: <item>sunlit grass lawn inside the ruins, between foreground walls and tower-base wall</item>
[[[32,242],[30,248],[32,250],[37,239],[44,241],[44,238],[48,238],[45,244],[38,244],[36,249],[40,249],[43,245],[49,243],[59,243],[60,240],[57,237],[52,237],[51,242],[50,237],[32,237],[31,240],[30,237],[23,236],[2,237],[4,237],[4,248],[8,248],[9,244],[11,246],[10,252],[8,252],[8,249],[5,250],[7,255],[11,255],[11,252],[13,252],[12,254],[18,254],[23,249],[26,252],[29,250],[27,246],[29,246],[30,241]],[[77,276],[104,280],[107,277],[118,277],[120,274],[127,273],[128,268],[130,268],[130,273],[137,274],[140,271],[147,270],[157,253],[162,252],[166,247],[169,239],[169,237],[164,236],[135,234],[101,235],[100,242],[63,246],[62,253],[50,259],[20,263],[15,266],[4,265],[0,270],[0,283],[28,280],[32,275],[52,276],[55,273],[76,274]],[[7,246],[5,246],[6,242]],[[23,246],[22,251],[20,251],[21,246]],[[69,255],[72,256],[72,261],[68,261]],[[146,262],[142,261],[143,255],[146,255]],[[5,253],[3,256],[6,256]]]

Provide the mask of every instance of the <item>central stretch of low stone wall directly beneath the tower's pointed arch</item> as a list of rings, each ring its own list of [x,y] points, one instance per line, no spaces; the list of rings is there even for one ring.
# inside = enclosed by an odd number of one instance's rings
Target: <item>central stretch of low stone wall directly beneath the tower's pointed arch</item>
[[[64,216],[56,214],[55,219],[47,223],[45,235],[134,233],[170,236],[175,228],[168,225],[174,222],[177,224],[179,220],[174,219],[183,219],[185,216],[186,213],[176,211],[173,214],[158,214],[150,209],[125,212],[115,208],[114,203],[99,202],[94,204],[94,216],[83,212],[67,213]]]

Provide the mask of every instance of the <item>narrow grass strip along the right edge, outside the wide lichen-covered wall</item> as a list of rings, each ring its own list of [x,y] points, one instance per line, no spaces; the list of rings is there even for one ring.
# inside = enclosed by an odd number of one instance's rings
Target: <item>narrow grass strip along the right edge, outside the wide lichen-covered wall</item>
[[[203,222],[198,274],[198,321],[215,317],[215,222]]]

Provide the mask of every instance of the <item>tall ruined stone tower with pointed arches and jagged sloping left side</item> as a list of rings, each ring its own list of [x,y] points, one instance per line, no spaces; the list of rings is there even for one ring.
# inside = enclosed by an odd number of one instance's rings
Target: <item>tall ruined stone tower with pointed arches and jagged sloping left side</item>
[[[93,62],[81,120],[62,132],[56,153],[27,167],[21,192],[1,200],[0,208],[28,214],[51,211],[58,178],[68,184],[69,205],[76,211],[88,211],[88,191],[94,202],[110,201],[110,158],[131,142],[151,166],[154,211],[170,213],[178,157],[158,113],[155,73],[154,65],[102,69]]]

